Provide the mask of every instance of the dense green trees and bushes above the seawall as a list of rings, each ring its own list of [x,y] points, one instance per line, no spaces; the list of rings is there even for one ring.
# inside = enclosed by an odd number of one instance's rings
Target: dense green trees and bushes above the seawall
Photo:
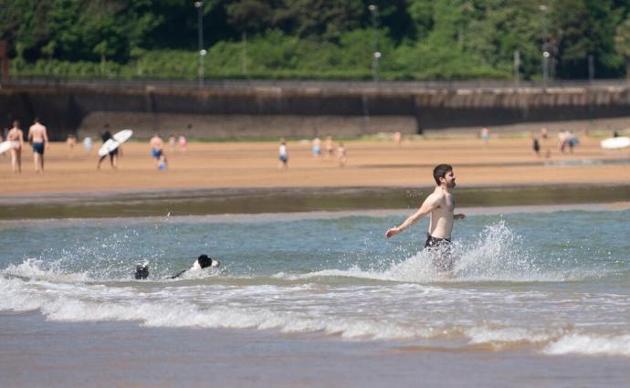
[[[370,5],[376,5],[371,7]],[[371,9],[372,8],[372,9]],[[628,74],[630,0],[3,0],[14,75],[585,79]]]

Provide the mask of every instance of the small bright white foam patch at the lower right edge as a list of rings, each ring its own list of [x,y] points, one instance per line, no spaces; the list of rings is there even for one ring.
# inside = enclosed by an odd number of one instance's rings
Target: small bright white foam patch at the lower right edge
[[[630,356],[630,335],[567,334],[545,347],[546,354]]]

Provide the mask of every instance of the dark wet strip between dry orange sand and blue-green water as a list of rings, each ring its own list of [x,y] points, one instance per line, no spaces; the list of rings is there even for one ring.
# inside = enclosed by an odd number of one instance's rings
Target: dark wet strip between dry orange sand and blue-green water
[[[419,206],[433,187],[164,189],[0,196],[0,219],[257,215],[383,211]],[[525,184],[457,188],[459,208],[625,204],[630,184]]]

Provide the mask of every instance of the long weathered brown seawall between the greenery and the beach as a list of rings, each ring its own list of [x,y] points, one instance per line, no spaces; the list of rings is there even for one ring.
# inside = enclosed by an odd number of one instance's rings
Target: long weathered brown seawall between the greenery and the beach
[[[106,123],[136,138],[255,139],[359,136],[401,131],[509,131],[541,123],[630,127],[630,88],[409,89],[93,89],[9,86],[0,89],[2,125],[37,115],[50,137],[95,136]],[[599,124],[598,124],[599,125]],[[604,124],[601,124],[604,125]]]

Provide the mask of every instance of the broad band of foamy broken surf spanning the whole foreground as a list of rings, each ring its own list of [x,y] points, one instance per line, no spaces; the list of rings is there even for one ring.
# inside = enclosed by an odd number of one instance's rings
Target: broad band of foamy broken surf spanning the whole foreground
[[[506,292],[413,283],[235,286],[138,282],[124,286],[0,277],[0,312],[38,310],[47,320],[126,320],[148,327],[277,330],[352,340],[460,338],[471,344],[535,344],[547,354],[628,355],[628,335],[612,336],[604,331],[587,336],[552,329],[559,328],[559,322],[543,312],[555,309],[554,303],[565,306],[571,300],[549,299],[550,295],[541,292]],[[593,308],[601,304],[600,296],[591,299],[581,303]],[[542,300],[551,306],[539,306]],[[513,307],[525,305],[528,310],[539,306],[541,317],[548,318],[512,314]],[[477,323],[489,310],[494,320],[503,323]],[[559,312],[572,316],[572,311]],[[579,320],[597,321],[603,313],[592,311]]]

